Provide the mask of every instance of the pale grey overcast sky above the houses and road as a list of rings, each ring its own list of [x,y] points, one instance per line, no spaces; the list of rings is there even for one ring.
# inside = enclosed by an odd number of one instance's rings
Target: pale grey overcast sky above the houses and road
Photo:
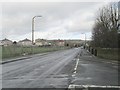
[[[107,2],[17,2],[2,4],[2,39],[90,39],[96,12]]]

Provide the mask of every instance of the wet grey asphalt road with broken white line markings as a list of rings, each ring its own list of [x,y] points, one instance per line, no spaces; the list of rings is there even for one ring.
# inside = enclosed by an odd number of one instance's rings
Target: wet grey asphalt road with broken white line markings
[[[70,85],[118,86],[118,65],[74,48],[2,65],[3,88],[68,88]]]

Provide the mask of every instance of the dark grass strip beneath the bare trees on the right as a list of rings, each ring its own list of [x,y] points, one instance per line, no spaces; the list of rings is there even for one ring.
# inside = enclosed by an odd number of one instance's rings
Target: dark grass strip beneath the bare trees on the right
[[[104,59],[118,60],[119,55],[118,48],[97,48],[97,56]]]

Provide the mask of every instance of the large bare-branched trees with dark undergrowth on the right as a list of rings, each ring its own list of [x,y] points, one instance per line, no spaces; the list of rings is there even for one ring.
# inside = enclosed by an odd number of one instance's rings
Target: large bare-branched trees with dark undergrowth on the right
[[[112,3],[97,12],[92,32],[92,46],[118,47],[118,4]]]

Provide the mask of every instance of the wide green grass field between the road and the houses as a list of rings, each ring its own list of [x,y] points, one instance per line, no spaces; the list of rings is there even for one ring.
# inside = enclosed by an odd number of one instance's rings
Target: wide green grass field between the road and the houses
[[[45,52],[52,52],[57,50],[67,49],[68,47],[27,47],[27,46],[2,46],[1,47],[1,55],[2,59],[5,58],[13,58],[18,56],[30,55],[30,54],[37,54],[37,53],[45,53]]]

